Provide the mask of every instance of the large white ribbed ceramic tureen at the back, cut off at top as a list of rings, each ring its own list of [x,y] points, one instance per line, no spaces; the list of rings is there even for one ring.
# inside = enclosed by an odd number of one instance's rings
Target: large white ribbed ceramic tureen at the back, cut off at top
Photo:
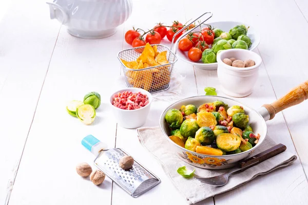
[[[131,0],[53,0],[47,2],[50,18],[67,26],[70,34],[81,38],[104,38],[131,14]]]

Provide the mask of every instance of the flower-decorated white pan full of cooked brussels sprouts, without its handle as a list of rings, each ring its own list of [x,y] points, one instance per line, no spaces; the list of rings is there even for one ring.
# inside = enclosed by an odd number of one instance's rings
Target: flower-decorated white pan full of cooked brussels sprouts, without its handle
[[[160,128],[180,159],[215,170],[236,166],[261,145],[267,132],[259,112],[220,96],[177,101],[162,113]]]

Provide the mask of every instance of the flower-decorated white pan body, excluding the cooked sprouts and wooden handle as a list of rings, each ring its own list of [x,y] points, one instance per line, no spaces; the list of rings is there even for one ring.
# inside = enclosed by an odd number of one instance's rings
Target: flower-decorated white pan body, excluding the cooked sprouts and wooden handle
[[[224,103],[228,104],[228,107],[239,105],[244,108],[245,113],[249,115],[249,125],[251,125],[251,127],[253,128],[254,133],[260,134],[259,142],[255,147],[245,152],[241,152],[239,154],[222,155],[222,156],[205,155],[186,150],[185,148],[182,148],[179,145],[175,144],[175,142],[169,138],[170,130],[165,120],[166,112],[169,109],[172,108],[180,109],[182,105],[195,105],[196,107],[199,107],[204,103],[213,103],[216,100],[223,101]],[[166,110],[162,113],[160,117],[160,128],[164,133],[165,137],[168,139],[169,143],[172,145],[171,146],[172,150],[180,159],[182,159],[186,163],[189,163],[192,166],[196,166],[202,169],[215,169],[215,170],[227,169],[238,165],[239,160],[249,156],[255,149],[257,149],[262,144],[267,132],[265,120],[263,119],[261,114],[259,114],[259,112],[257,112],[253,108],[245,104],[242,104],[239,101],[227,97],[210,96],[210,95],[188,97],[170,105],[169,107],[166,108]]]

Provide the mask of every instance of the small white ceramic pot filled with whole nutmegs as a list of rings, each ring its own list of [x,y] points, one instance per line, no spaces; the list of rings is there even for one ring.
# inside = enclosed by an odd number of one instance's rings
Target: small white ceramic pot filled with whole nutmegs
[[[245,97],[253,92],[262,63],[257,53],[244,49],[228,49],[217,55],[217,62],[217,75],[225,94]]]

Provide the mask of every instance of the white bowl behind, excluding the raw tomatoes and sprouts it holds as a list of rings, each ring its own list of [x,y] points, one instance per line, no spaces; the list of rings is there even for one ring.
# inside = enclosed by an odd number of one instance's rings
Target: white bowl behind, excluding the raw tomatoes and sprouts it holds
[[[249,24],[245,24],[242,22],[213,22],[213,23],[208,23],[208,25],[211,25],[214,28],[219,28],[225,32],[229,32],[230,29],[232,29],[235,26],[238,25],[245,25],[245,26],[249,26],[248,28],[248,32],[247,32],[247,36],[249,38],[251,38],[252,40],[252,45],[251,47],[248,48],[248,50],[254,50],[255,48],[257,48],[257,46],[260,43],[260,35],[259,33],[254,29],[254,27],[252,27]],[[200,28],[196,28],[193,32],[195,31],[200,31]],[[179,58],[183,61],[186,61],[187,63],[195,66],[196,68],[202,69],[202,70],[216,70],[218,64],[217,63],[213,63],[213,64],[204,64],[202,63],[202,60],[199,60],[198,62],[192,62],[188,56],[187,56],[187,52],[183,52],[180,51],[180,49],[178,49],[177,55],[179,56]]]

